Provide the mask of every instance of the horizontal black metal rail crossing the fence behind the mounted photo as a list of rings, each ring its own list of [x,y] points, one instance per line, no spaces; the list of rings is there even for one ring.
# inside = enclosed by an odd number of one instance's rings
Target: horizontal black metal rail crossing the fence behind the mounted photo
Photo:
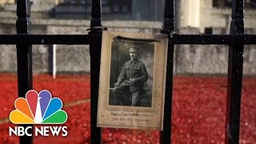
[[[94,37],[100,38],[101,34]],[[64,44],[64,45],[88,45],[88,34],[0,34],[0,44]],[[254,34],[173,34],[170,35],[170,44],[203,44],[203,45],[251,45],[256,44]]]

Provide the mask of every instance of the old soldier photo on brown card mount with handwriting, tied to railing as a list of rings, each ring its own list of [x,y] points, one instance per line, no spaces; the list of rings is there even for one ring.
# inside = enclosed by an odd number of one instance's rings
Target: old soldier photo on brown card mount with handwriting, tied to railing
[[[168,38],[104,31],[98,126],[162,129]]]

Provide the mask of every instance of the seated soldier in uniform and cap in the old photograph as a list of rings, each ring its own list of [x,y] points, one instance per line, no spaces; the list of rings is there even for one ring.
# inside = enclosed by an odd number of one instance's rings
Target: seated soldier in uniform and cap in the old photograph
[[[131,46],[129,54],[130,61],[124,64],[118,82],[114,83],[114,97],[124,106],[140,106],[143,83],[147,81],[148,75],[146,66],[138,60],[138,47]]]

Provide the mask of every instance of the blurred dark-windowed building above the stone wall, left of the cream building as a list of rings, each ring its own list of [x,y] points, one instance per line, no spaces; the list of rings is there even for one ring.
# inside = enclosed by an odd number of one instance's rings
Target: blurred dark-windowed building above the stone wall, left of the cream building
[[[15,11],[15,3],[0,0],[3,11]],[[90,19],[91,0],[30,0],[30,4],[35,18]],[[102,19],[156,21],[162,19],[162,6],[162,0],[102,0]]]

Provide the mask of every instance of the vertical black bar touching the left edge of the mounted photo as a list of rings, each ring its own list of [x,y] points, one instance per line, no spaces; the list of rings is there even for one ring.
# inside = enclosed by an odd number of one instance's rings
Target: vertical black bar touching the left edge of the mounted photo
[[[102,143],[102,129],[97,127],[98,82],[102,48],[101,0],[93,0],[90,21],[90,143]]]

